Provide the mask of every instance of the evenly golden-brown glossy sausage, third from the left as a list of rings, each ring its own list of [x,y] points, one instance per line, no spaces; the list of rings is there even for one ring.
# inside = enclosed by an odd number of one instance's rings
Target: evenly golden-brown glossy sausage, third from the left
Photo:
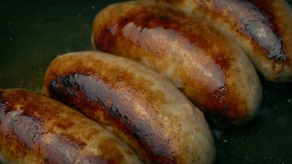
[[[162,4],[112,4],[94,21],[93,45],[166,75],[219,125],[257,113],[262,87],[252,63],[212,24]]]

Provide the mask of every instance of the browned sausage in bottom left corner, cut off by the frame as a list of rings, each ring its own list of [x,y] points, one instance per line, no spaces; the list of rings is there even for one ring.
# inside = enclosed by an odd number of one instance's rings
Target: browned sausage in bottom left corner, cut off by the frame
[[[0,163],[142,164],[100,124],[23,89],[0,89]]]

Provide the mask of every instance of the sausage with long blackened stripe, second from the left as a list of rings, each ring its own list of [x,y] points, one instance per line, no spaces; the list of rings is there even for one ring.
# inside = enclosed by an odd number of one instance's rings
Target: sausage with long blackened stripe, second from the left
[[[145,163],[212,164],[203,114],[162,74],[97,51],[54,59],[43,93],[119,136]]]

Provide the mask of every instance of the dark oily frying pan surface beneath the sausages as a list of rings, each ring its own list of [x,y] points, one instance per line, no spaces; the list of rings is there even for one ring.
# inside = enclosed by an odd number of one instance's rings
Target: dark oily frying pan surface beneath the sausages
[[[41,92],[50,61],[66,52],[92,50],[95,15],[118,1],[1,2],[0,88]],[[217,164],[292,164],[292,84],[261,82],[263,102],[251,123],[225,130],[210,124]]]

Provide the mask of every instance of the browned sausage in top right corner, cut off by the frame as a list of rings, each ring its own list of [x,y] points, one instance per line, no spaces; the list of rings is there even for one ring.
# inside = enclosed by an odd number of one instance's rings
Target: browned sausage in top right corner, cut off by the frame
[[[292,9],[286,0],[150,0],[213,23],[234,39],[266,80],[292,82]]]

